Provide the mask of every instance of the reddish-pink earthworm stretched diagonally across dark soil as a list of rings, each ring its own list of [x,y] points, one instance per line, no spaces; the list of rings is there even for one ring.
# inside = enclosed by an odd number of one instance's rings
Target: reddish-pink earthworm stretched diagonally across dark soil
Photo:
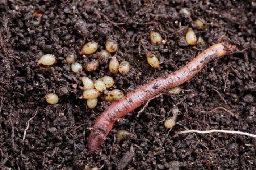
[[[89,151],[95,152],[100,148],[100,144],[104,142],[112,129],[114,122],[119,118],[146,103],[147,100],[162,91],[179,86],[190,80],[194,75],[200,72],[207,63],[214,59],[219,59],[228,53],[234,52],[235,49],[236,46],[231,45],[228,42],[210,46],[179,70],[170,73],[166,77],[158,77],[128,93],[122,99],[110,104],[100,117],[98,117],[93,126],[88,140]]]

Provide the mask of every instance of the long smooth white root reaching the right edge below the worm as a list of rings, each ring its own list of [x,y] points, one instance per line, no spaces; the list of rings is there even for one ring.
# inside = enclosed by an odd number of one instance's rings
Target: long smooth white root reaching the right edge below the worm
[[[242,131],[219,130],[219,129],[205,130],[205,131],[193,130],[193,129],[192,130],[183,130],[183,131],[177,132],[173,137],[175,138],[178,135],[183,134],[183,133],[213,133],[213,132],[232,133],[232,134],[239,134],[239,135],[245,135],[245,136],[256,138],[256,135],[242,132]]]

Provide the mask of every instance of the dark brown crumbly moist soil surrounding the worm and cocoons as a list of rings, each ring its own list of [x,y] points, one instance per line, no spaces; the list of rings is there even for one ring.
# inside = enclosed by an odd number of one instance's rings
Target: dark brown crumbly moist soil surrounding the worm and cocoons
[[[191,17],[179,14],[188,8]],[[256,169],[256,139],[227,133],[186,133],[182,130],[233,130],[256,134],[256,3],[253,1],[98,1],[98,0],[1,0],[0,1],[0,169],[96,170],[100,169]],[[193,24],[204,23],[202,29]],[[196,45],[185,35],[193,28]],[[150,31],[164,44],[153,45]],[[118,43],[119,62],[128,61],[129,73],[114,75],[108,62],[97,70],[73,73],[64,58],[75,55],[86,65],[96,54],[80,55],[83,45],[106,40]],[[81,99],[81,76],[96,80],[112,76],[125,94],[156,77],[178,70],[202,50],[229,41],[235,53],[207,63],[182,85],[179,94],[164,91],[143,109],[139,107],[114,124],[92,154],[88,136],[97,117],[109,106],[98,98],[89,109]],[[154,52],[161,70],[152,68],[146,53]],[[43,54],[54,54],[53,66],[38,64]],[[50,105],[45,95],[56,93]],[[102,95],[103,96],[103,95]],[[143,105],[144,106],[144,105]],[[164,120],[179,109],[172,130]],[[200,111],[211,111],[202,113]],[[138,115],[138,117],[137,117]],[[118,130],[131,135],[119,139]]]

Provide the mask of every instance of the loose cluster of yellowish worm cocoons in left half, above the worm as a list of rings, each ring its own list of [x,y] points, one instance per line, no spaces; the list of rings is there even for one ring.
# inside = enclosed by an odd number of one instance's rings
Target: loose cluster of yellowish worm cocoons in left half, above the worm
[[[116,52],[118,49],[118,44],[113,41],[106,41],[105,44],[106,50],[101,50],[97,52],[98,60],[93,60],[88,62],[85,66],[85,70],[88,72],[92,72],[97,70],[100,61],[108,62],[109,61],[109,71],[113,74],[117,74],[120,72],[122,75],[125,75],[130,70],[130,64],[127,61],[122,61],[119,64],[116,56],[112,56],[112,52]],[[90,55],[96,52],[98,48],[98,44],[94,41],[88,42],[83,46],[80,51],[81,55]],[[74,54],[68,54],[65,57],[65,61],[67,64],[71,64],[71,70],[74,73],[79,73],[83,70],[83,66],[76,62],[76,57]],[[42,64],[45,66],[51,66],[56,62],[56,57],[53,54],[45,54],[40,57],[38,60],[38,64]],[[110,76],[101,77],[98,80],[92,81],[89,77],[80,77],[84,85],[84,92],[81,98],[87,99],[86,103],[89,108],[95,108],[98,103],[98,97],[101,96],[102,93],[105,94],[103,99],[106,102],[110,102],[112,100],[118,100],[124,96],[123,92],[118,89],[113,89],[108,91],[107,88],[111,88],[114,85],[114,80]],[[46,102],[49,104],[56,104],[59,101],[59,98],[56,94],[50,93],[45,96]]]

